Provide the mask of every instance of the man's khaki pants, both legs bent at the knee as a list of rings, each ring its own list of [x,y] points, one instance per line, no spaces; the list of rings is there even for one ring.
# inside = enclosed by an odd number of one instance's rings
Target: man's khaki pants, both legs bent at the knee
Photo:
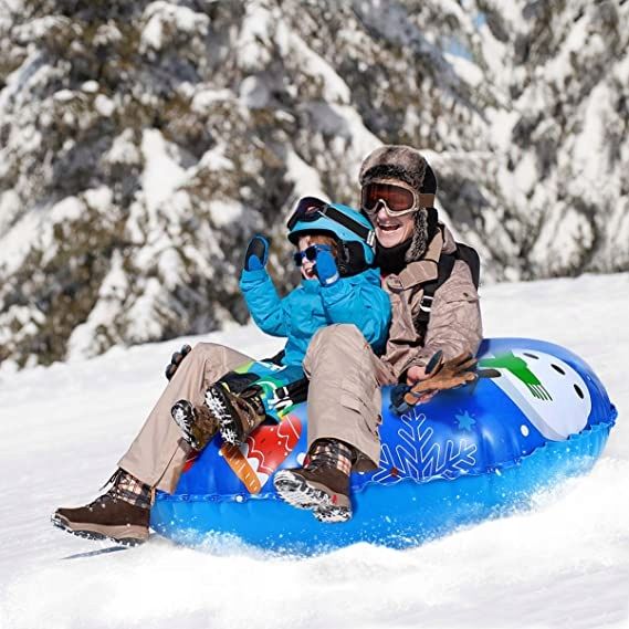
[[[172,493],[189,445],[170,409],[180,399],[203,403],[206,389],[249,356],[212,343],[199,343],[179,365],[127,453],[118,462],[144,483]],[[339,439],[358,451],[355,470],[378,465],[380,457],[380,385],[394,381],[387,364],[354,325],[322,328],[304,359],[310,378],[308,448],[317,439]]]

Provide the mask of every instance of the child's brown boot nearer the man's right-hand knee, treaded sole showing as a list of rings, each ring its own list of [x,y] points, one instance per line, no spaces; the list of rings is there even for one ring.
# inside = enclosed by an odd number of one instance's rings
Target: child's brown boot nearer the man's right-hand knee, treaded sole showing
[[[231,445],[241,445],[266,418],[260,397],[262,389],[252,385],[234,394],[226,382],[206,391],[206,405],[219,423],[221,437]]]

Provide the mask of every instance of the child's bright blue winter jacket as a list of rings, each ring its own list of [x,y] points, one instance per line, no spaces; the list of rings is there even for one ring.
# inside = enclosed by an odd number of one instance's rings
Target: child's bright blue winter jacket
[[[243,271],[240,287],[260,329],[289,338],[283,365],[301,366],[315,332],[334,323],[353,323],[376,354],[385,348],[391,302],[380,289],[377,269],[342,277],[325,287],[318,280],[302,280],[282,300],[265,269]]]

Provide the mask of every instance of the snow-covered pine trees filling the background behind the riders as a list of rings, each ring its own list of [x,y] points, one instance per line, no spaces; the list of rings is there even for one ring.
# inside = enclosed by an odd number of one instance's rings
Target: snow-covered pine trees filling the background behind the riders
[[[427,151],[486,277],[629,265],[626,2],[0,2],[0,360],[243,322],[250,235],[286,284],[293,201],[355,203],[382,141]]]

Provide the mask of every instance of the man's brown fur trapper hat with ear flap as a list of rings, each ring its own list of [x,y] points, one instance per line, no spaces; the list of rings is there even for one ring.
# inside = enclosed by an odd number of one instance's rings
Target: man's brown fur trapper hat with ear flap
[[[437,230],[437,211],[432,209],[437,193],[437,177],[426,158],[415,148],[403,145],[385,145],[373,150],[360,166],[360,186],[373,181],[403,181],[418,195],[424,208],[415,214],[415,230],[406,252],[406,261],[415,262],[426,253]]]

